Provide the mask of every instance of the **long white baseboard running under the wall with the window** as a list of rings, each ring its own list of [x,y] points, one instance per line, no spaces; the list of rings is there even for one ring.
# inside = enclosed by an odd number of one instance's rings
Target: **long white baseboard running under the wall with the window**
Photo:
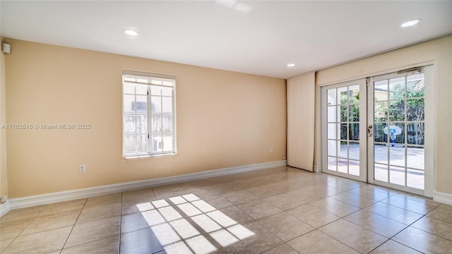
[[[239,167],[230,167],[225,169],[214,169],[193,174],[162,177],[159,179],[131,181],[126,183],[109,184],[106,186],[97,186],[92,188],[82,188],[71,191],[61,191],[57,193],[33,195],[24,198],[11,198],[10,200],[4,202],[4,204],[1,205],[0,217],[6,214],[6,212],[18,208],[32,207],[35,205],[47,205],[54,202],[76,200],[78,198],[90,198],[97,195],[118,193],[122,191],[133,191],[140,188],[162,186],[171,183],[182,183],[185,181],[206,179],[215,176],[226,176],[229,174],[238,174],[259,169],[271,169],[273,167],[285,167],[285,166],[287,166],[287,161],[283,160],[278,162],[266,162],[261,164],[251,164]]]

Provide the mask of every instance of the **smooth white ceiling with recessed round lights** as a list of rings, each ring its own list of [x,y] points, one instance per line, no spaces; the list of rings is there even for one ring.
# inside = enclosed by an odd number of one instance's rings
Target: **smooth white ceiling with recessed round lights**
[[[452,1],[1,0],[0,8],[4,37],[278,78],[452,32]],[[412,18],[422,22],[400,28]]]

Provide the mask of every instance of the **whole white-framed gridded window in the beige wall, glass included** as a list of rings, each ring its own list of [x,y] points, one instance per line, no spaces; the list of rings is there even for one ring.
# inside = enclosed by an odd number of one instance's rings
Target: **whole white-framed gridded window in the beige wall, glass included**
[[[176,80],[172,75],[123,71],[123,155],[176,153]]]

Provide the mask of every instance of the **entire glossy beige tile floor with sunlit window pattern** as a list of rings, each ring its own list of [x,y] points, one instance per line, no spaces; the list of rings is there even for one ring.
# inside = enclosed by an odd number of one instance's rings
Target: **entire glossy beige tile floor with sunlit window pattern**
[[[12,210],[9,253],[452,253],[452,206],[278,167]]]

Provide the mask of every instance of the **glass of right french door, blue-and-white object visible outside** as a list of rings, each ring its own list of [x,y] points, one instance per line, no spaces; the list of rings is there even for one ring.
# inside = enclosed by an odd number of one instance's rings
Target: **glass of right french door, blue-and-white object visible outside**
[[[374,180],[424,190],[424,73],[376,77],[371,85]]]

